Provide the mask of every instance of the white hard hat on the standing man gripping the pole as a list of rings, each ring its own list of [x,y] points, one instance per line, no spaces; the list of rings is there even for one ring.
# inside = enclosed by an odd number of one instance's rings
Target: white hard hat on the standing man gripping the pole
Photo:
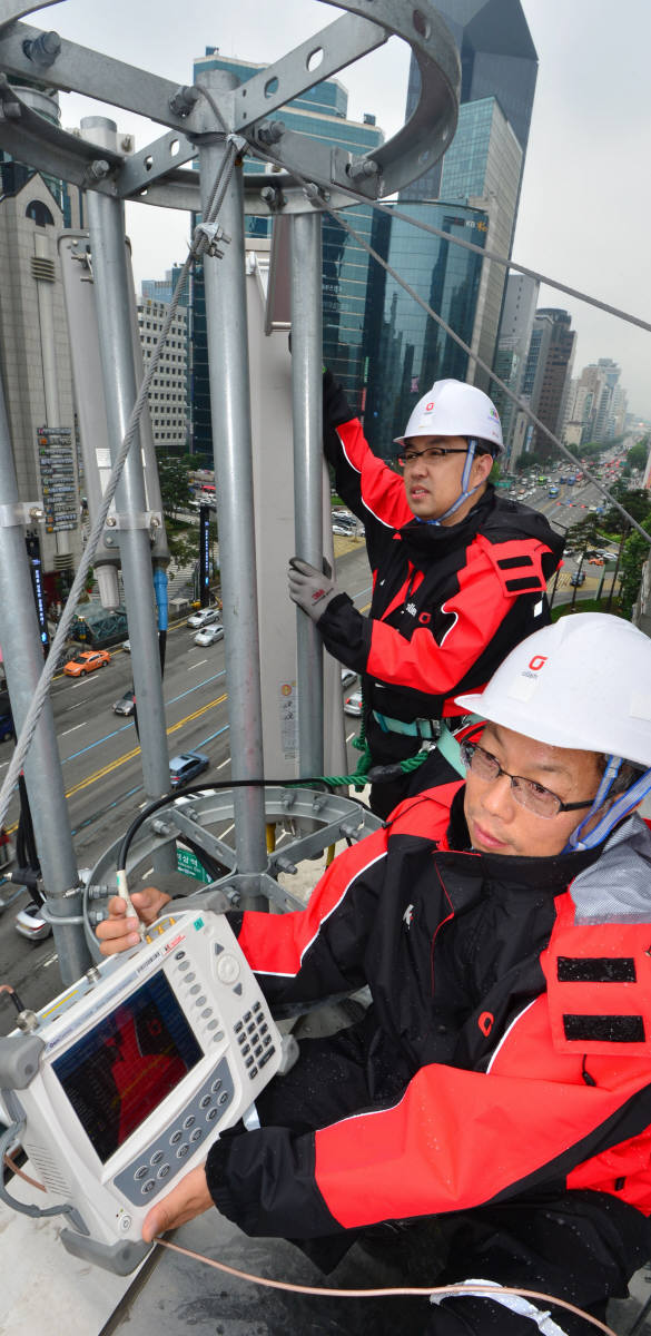
[[[492,454],[502,450],[502,426],[495,403],[464,381],[435,381],[412,410],[404,436],[395,444],[403,445],[412,436],[466,436],[487,441]]]

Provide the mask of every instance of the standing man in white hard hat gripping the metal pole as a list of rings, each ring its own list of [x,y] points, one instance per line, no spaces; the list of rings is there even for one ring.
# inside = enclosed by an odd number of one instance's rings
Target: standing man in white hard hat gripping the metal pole
[[[380,816],[408,791],[459,770],[454,697],[484,687],[508,651],[548,621],[546,587],[563,549],[544,516],[488,482],[502,428],[474,385],[436,381],[395,446],[402,477],[371,452],[327,371],[326,456],[339,494],[366,526],[371,612],[362,616],[299,558],[289,593],[326,648],[363,675],[366,741],[375,775],[383,770],[371,790]],[[412,776],[412,759],[436,741]]]

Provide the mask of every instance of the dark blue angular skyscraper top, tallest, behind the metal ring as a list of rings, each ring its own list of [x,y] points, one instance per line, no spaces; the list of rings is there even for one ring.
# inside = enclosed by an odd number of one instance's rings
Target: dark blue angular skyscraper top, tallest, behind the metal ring
[[[436,8],[459,51],[462,106],[496,98],[522,148],[523,167],[536,88],[538,55],[520,0],[439,0]],[[419,91],[420,71],[412,56],[407,116],[416,107]],[[444,195],[442,171],[446,162],[447,155],[414,182],[406,195],[410,199],[436,199]]]

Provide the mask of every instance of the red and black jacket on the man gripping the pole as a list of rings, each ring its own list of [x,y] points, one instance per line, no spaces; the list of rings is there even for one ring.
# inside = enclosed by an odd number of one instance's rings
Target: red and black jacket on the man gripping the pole
[[[319,621],[327,649],[366,673],[370,709],[394,719],[459,716],[508,652],[550,620],[546,588],[563,540],[536,510],[492,486],[460,524],[414,518],[404,485],[355,418],[326,434],[339,494],[366,525],[371,613],[347,595]]]

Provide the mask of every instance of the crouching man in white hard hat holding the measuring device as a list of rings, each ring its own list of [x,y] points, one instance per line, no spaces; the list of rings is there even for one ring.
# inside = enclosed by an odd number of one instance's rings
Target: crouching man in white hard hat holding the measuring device
[[[566,617],[459,703],[486,721],[466,783],[407,799],[304,911],[229,915],[272,1009],[372,1006],[301,1041],[145,1237],[216,1205],[324,1269],[384,1238],[391,1284],[466,1287],[410,1309],[418,1336],[587,1336],[576,1305],[603,1321],[650,1255],[651,640]],[[133,900],[151,923],[167,896]],[[136,926],[112,900],[103,953]]]

